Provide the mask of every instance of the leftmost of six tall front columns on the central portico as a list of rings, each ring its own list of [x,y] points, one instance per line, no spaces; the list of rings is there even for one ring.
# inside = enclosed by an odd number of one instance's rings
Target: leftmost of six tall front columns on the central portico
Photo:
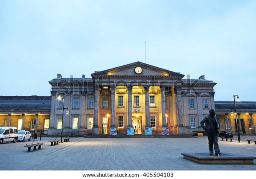
[[[94,117],[93,117],[93,135],[99,135],[99,84],[95,85],[95,95],[94,95],[94,102],[93,102],[93,108],[94,108]]]

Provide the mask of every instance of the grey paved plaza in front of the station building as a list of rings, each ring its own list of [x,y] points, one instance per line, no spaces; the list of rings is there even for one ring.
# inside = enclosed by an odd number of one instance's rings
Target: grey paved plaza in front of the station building
[[[246,138],[221,141],[221,153],[256,156],[256,144]],[[0,170],[256,170],[253,165],[206,165],[184,159],[181,153],[208,153],[208,139],[192,138],[71,138],[68,142],[50,145],[51,137],[41,149],[27,151],[32,141],[0,144]],[[60,139],[60,138],[59,138]],[[221,157],[221,156],[220,156]]]

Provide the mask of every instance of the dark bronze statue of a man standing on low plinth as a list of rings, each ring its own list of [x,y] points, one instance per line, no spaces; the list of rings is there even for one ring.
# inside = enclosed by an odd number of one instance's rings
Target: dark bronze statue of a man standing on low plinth
[[[215,110],[213,109],[209,110],[209,115],[204,117],[204,119],[200,122],[200,124],[205,130],[208,137],[210,155],[213,155],[213,148],[215,151],[215,156],[221,155],[221,152],[218,146],[218,129],[220,128],[220,125],[215,116]]]

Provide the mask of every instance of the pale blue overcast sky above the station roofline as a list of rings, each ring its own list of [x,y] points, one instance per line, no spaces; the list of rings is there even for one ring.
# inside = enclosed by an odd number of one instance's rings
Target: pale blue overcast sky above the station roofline
[[[255,17],[256,0],[0,0],[0,95],[141,61],[256,101]]]

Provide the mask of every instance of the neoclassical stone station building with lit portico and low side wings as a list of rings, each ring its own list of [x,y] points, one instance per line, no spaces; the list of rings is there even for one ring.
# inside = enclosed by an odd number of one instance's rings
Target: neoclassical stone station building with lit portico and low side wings
[[[203,131],[200,121],[215,109],[220,130],[236,133],[238,127],[239,133],[255,133],[256,102],[240,102],[232,115],[234,102],[214,101],[217,83],[204,75],[184,77],[142,62],[94,72],[91,78],[57,74],[49,81],[50,97],[1,97],[0,126],[48,135],[61,130],[93,135],[192,135]]]

